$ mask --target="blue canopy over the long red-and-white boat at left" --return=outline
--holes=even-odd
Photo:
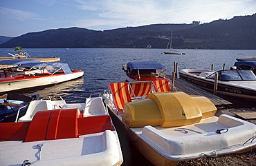
[[[64,74],[69,74],[69,73],[72,72],[67,63],[60,63],[60,62],[26,63],[26,64],[19,65],[19,66],[17,66],[17,67],[19,67],[19,68],[53,67],[53,68],[51,68],[51,70],[52,70],[51,72],[54,72],[54,67],[57,67],[57,68],[62,68],[62,70],[64,71]]]

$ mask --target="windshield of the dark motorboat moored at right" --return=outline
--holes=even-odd
[[[215,72],[217,73],[217,72]],[[221,70],[218,71],[218,79],[221,81],[252,81],[256,80],[255,74],[251,70]],[[207,77],[214,79],[214,74]]]

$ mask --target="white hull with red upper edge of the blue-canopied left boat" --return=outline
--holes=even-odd
[[[10,77],[10,79],[0,79],[0,93],[15,90],[24,90],[31,87],[40,87],[46,85],[54,85],[77,79],[84,74],[83,71],[76,71],[70,74],[53,74],[44,76],[26,76]]]

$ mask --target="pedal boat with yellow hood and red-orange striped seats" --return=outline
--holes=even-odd
[[[204,96],[158,92],[152,84],[110,83],[102,98],[113,123],[154,165],[176,165],[255,147],[255,124],[226,114],[214,116],[217,108]]]

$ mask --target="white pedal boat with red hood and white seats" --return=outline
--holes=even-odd
[[[1,165],[121,165],[122,151],[102,98],[32,101],[18,122],[0,123]]]

